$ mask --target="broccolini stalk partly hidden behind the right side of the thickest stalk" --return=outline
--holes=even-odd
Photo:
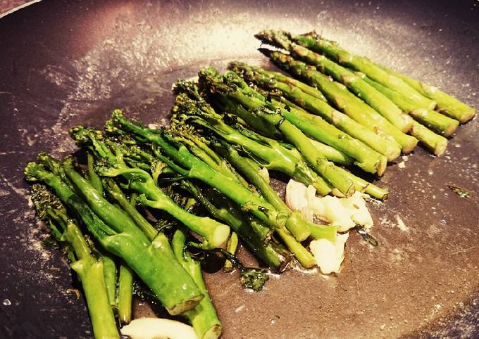
[[[216,309],[213,306],[213,302],[209,296],[208,290],[201,274],[201,265],[197,260],[194,260],[189,252],[185,248],[186,243],[186,231],[183,227],[178,227],[171,245],[175,257],[182,264],[182,267],[188,272],[197,286],[203,293],[204,298],[194,309],[185,312],[183,315],[192,324],[194,331],[197,333],[198,338],[210,339],[219,338],[221,335],[221,323],[216,314]]]

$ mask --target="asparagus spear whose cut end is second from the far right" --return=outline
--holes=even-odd
[[[387,87],[382,86],[382,84],[378,84],[378,82],[374,82],[366,76],[364,76],[364,79],[366,82],[371,84],[371,86],[375,87],[375,89],[378,89],[378,91],[380,91],[382,94],[391,98],[391,100],[397,103],[402,110],[409,112],[409,115],[411,115],[411,117],[413,117],[415,120],[443,136],[450,136],[459,126],[459,122],[457,120],[437,113],[435,110],[416,108],[415,103],[411,101],[411,99],[403,96],[399,92],[388,89]]]

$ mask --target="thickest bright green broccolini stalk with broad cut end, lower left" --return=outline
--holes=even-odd
[[[45,158],[46,155],[40,156],[40,160]],[[55,163],[53,158],[42,162],[50,166],[54,165],[50,169],[55,173],[61,171],[61,165]],[[58,198],[77,213],[103,248],[122,257],[140,279],[153,290],[170,314],[180,314],[198,304],[203,295],[191,277],[175,260],[166,236],[158,234],[154,241],[150,242],[139,229],[125,226],[127,217],[120,214],[117,214],[115,219],[110,219],[111,226],[108,226],[54,172],[46,170],[44,165],[36,162],[29,162],[25,167],[27,180],[42,181],[53,188]],[[94,189],[88,182],[82,183],[81,186],[80,188],[85,187],[88,190]],[[101,274],[103,275],[103,271]]]

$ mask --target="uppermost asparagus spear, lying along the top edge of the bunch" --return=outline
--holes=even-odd
[[[399,93],[402,93],[404,96],[411,98],[411,100],[413,100],[419,107],[433,109],[436,106],[435,101],[421,95],[416,89],[413,89],[413,87],[402,79],[390,75],[368,58],[349,53],[338,46],[335,42],[323,39],[315,32],[304,35],[294,35],[291,36],[291,39],[307,49],[324,53],[328,58],[337,61],[347,68],[353,68],[354,70],[363,72],[375,82],[379,82],[385,87],[394,89],[394,91],[399,91]]]

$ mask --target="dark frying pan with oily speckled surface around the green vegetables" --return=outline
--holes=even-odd
[[[69,127],[101,127],[113,108],[165,122],[171,84],[201,66],[239,59],[273,68],[253,37],[268,27],[316,30],[479,108],[478,18],[476,1],[385,0],[63,0],[2,18],[0,336],[92,335],[84,300],[68,291],[77,282],[46,246],[23,181],[39,151],[75,150]],[[248,293],[235,274],[206,273],[223,338],[478,337],[478,140],[473,121],[440,158],[418,147],[391,164],[382,179],[390,199],[370,204],[380,247],[352,234],[338,276],[292,269]]]

